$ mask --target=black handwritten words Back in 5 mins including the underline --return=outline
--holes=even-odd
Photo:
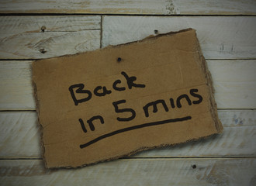
[[[126,80],[127,88],[132,89],[132,88],[145,88],[145,84],[139,84],[137,83],[137,77],[135,76],[128,76],[126,72],[122,71],[121,74]],[[126,91],[127,88],[123,87],[122,81],[120,79],[117,79],[112,83],[112,90],[113,91]],[[73,99],[74,105],[78,105],[82,102],[88,102],[92,98],[92,94],[94,94],[97,97],[104,97],[107,95],[112,94],[112,90],[109,88],[106,88],[106,86],[96,86],[94,90],[91,92],[90,90],[85,89],[85,84],[73,84],[71,85],[68,90],[70,91],[71,98]],[[147,104],[144,105],[142,108],[144,112],[144,115],[146,118],[150,117],[149,110],[152,109],[153,113],[159,112],[159,108],[164,108],[165,112],[171,112],[175,108],[182,108],[182,106],[187,106],[187,105],[197,105],[202,102],[202,96],[198,94],[199,90],[196,88],[192,88],[189,90],[190,95],[179,95],[176,98],[169,98],[169,102],[165,102],[164,99],[157,99],[154,102],[148,102]],[[194,100],[191,98],[195,98]],[[128,101],[129,102],[129,101]],[[185,104],[187,102],[187,104]],[[128,117],[116,117],[116,120],[118,122],[130,122],[133,119],[136,118],[136,111],[133,108],[127,108],[123,104],[126,103],[125,99],[121,99],[116,102],[112,102],[112,105],[114,106],[114,111],[118,115],[129,115]],[[80,148],[85,148],[86,146],[90,146],[93,143],[98,142],[99,140],[103,140],[107,137],[114,136],[119,133],[125,133],[127,131],[133,130],[133,129],[141,129],[144,127],[149,127],[149,126],[159,126],[171,122],[182,122],[192,119],[192,116],[185,116],[183,118],[176,118],[176,119],[167,119],[167,120],[162,120],[162,121],[157,121],[157,122],[147,122],[144,124],[140,124],[137,126],[129,126],[123,129],[118,129],[116,131],[112,131],[110,133],[106,133],[102,136],[96,137],[94,140],[89,141],[88,143],[81,144]],[[86,126],[84,121],[82,119],[78,119],[81,125],[81,129],[83,130],[84,133],[88,133],[88,129],[86,129]],[[95,115],[91,119],[87,120],[87,125],[89,129],[93,132],[95,131],[95,124],[96,123],[101,123],[104,124],[104,119],[101,115]]]

